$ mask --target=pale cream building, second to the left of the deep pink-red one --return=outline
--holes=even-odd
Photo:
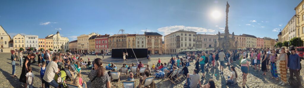
[[[96,33],[89,33],[88,35],[83,34],[77,37],[77,43],[78,43],[78,53],[89,53],[89,38],[91,36],[97,35]]]

